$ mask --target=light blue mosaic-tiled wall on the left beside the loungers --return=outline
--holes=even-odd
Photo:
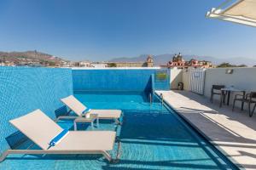
[[[0,67],[0,154],[16,132],[9,120],[36,109],[55,118],[60,99],[73,94],[72,81],[71,69]]]

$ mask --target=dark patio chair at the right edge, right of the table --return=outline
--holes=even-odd
[[[236,94],[236,97],[233,102],[232,111],[234,111],[235,109],[236,101],[241,101],[241,111],[243,111],[243,103],[247,103],[249,116],[253,116],[253,112],[255,111],[255,107],[256,107],[256,92],[251,92],[249,94],[246,94],[245,96],[241,94]],[[251,111],[251,104],[254,104],[253,111]]]

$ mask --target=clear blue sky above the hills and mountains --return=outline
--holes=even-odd
[[[140,54],[256,59],[256,28],[212,20],[224,0],[0,0],[0,51],[71,60]]]

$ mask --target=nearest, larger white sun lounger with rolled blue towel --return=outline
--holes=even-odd
[[[108,153],[113,150],[116,139],[113,131],[67,131],[57,144],[51,146],[51,140],[58,137],[64,129],[42,111],[32,111],[9,122],[42,150],[6,150],[0,161],[9,154],[102,154],[108,161],[113,161]],[[120,144],[118,145],[119,148]]]

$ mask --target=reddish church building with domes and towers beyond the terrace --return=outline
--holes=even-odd
[[[213,65],[212,65],[212,62],[205,61],[205,60],[190,59],[189,61],[185,61],[183,59],[183,56],[179,53],[179,54],[175,54],[172,57],[172,61],[169,61],[167,65],[161,65],[161,66],[168,67],[168,68],[177,67],[180,69],[184,69],[189,67],[212,68]]]

